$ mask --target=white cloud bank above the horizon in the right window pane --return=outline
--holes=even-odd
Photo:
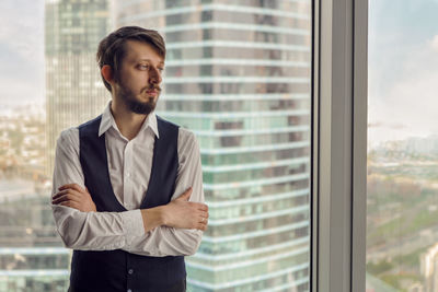
[[[369,130],[371,142],[438,133],[437,51],[438,35],[417,45],[399,60],[401,70],[393,72],[396,81],[384,92],[373,89],[373,72],[379,68],[370,68],[368,117],[371,125],[379,125]],[[395,129],[392,125],[404,127]]]

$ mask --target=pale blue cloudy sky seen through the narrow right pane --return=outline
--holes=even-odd
[[[438,0],[369,0],[368,141],[438,133]]]

